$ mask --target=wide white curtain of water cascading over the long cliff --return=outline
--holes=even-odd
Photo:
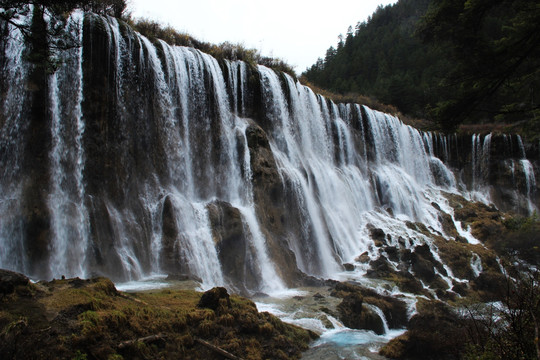
[[[62,55],[47,89],[44,277],[189,273],[204,287],[279,291],[298,283],[297,270],[320,277],[335,277],[344,263],[365,270],[356,258],[383,251],[370,236],[377,228],[389,245],[425,244],[442,261],[431,240],[404,224],[444,234],[439,210],[452,210],[442,191],[487,194],[491,135],[470,140],[468,177],[451,170],[465,153],[457,136],[335,104],[264,66],[150,41],[113,18],[74,14],[69,23],[84,24],[82,46]],[[0,267],[25,272],[31,241],[18,199],[22,160],[32,156],[21,105],[27,65],[22,37],[11,32],[0,118]],[[514,168],[525,180],[515,187],[533,210],[535,165],[522,153]],[[437,271],[448,284],[455,279]]]

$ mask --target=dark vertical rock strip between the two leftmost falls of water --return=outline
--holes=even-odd
[[[29,50],[26,56],[31,59],[28,83],[21,99],[23,114],[20,114],[20,121],[28,121],[27,131],[23,135],[26,142],[23,153],[14,154],[23,159],[24,192],[21,201],[24,212],[23,228],[26,233],[24,248],[29,260],[26,271],[33,276],[49,276],[47,254],[52,237],[51,214],[47,206],[51,183],[49,151],[52,147],[52,116],[49,76],[45,63],[48,56],[46,27],[43,10],[36,7],[32,15],[31,36],[26,44]],[[6,89],[10,85],[7,84]],[[18,126],[24,128],[24,125]]]

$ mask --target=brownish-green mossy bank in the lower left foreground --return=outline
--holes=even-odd
[[[8,358],[212,357],[196,343],[202,338],[245,359],[295,359],[315,338],[237,296],[230,304],[219,299],[212,310],[197,307],[201,294],[194,291],[128,295],[103,278],[55,280],[36,289],[30,298],[3,299],[0,352]],[[150,335],[158,336],[134,341]]]

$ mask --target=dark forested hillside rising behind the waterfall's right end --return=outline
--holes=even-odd
[[[400,0],[349,27],[304,76],[340,94],[374,96],[442,130],[519,124],[535,137],[539,69],[537,1]]]

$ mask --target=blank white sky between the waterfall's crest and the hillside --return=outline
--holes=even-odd
[[[171,25],[214,44],[240,43],[277,57],[298,74],[324,58],[349,25],[396,0],[128,0],[134,17]]]

